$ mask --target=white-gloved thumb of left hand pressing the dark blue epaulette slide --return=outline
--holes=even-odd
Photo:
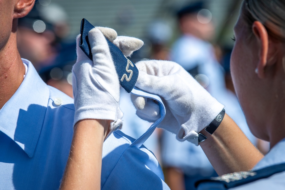
[[[119,102],[119,80],[108,43],[97,28],[89,31],[88,39],[93,56],[92,72],[94,79]]]

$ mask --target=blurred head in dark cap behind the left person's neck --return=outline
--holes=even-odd
[[[52,24],[40,16],[36,6],[18,21],[17,46],[21,56],[31,60],[36,70],[50,65],[57,55]]]

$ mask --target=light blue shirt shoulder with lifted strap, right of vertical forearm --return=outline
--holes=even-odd
[[[157,95],[143,92],[136,87],[131,93],[156,100],[160,108],[160,118],[137,139],[127,136],[121,130],[114,131],[105,139],[101,189],[170,190],[164,182],[164,175],[156,157],[143,145],[164,119],[165,107]]]

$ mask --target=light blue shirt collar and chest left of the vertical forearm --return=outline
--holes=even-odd
[[[58,189],[72,141],[73,99],[23,62],[27,74],[0,110],[0,189]]]

